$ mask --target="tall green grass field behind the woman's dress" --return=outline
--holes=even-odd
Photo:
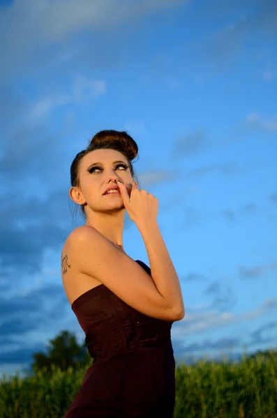
[[[51,378],[40,371],[3,379],[0,418],[62,418],[88,366],[77,372],[53,368]],[[177,366],[174,418],[277,418],[276,353]]]

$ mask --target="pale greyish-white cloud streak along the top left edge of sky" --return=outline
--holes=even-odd
[[[107,29],[188,0],[15,0],[0,13],[6,42],[59,42],[85,29]],[[15,30],[10,31],[10,28]]]

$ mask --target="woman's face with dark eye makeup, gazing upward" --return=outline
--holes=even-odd
[[[97,212],[124,207],[119,191],[105,194],[107,187],[117,186],[117,181],[120,181],[130,195],[135,183],[126,157],[112,149],[94,150],[84,155],[80,161],[79,176],[84,201]]]

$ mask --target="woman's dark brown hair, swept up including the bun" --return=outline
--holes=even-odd
[[[138,153],[137,143],[125,131],[102,130],[94,135],[85,150],[80,151],[80,153],[77,153],[75,156],[70,167],[70,181],[72,187],[80,186],[79,167],[82,157],[91,153],[91,151],[100,149],[112,149],[119,151],[119,153],[126,157],[130,167],[130,173],[133,178],[135,177],[132,161]],[[84,205],[81,205],[81,208],[82,214],[85,215]]]

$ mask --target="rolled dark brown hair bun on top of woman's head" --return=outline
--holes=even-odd
[[[98,132],[91,139],[88,150],[112,148],[126,155],[132,161],[138,153],[138,146],[135,140],[125,131],[103,130]]]

